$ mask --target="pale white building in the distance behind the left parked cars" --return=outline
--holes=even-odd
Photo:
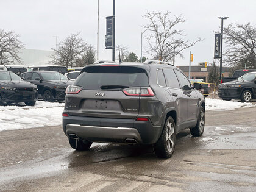
[[[54,51],[44,51],[38,49],[21,49],[19,54],[21,58],[21,64],[15,63],[16,65],[47,65],[53,59],[51,55],[54,54]]]

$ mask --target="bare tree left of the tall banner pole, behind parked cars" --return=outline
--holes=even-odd
[[[60,41],[58,49],[52,49],[55,51],[52,56],[55,65],[74,66],[76,60],[87,51],[88,44],[79,34],[70,34],[64,41]]]

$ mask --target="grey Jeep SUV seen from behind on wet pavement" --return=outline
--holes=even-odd
[[[204,96],[180,69],[160,63],[85,66],[66,89],[63,130],[71,147],[86,150],[93,141],[153,144],[158,157],[169,158],[181,130],[201,136]]]

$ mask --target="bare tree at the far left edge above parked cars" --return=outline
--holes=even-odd
[[[8,65],[15,62],[21,63],[19,57],[20,49],[24,46],[21,41],[18,40],[20,35],[16,35],[12,31],[5,31],[0,29],[0,64]]]

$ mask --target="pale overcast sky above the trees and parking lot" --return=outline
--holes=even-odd
[[[0,28],[20,34],[20,40],[28,49],[51,50],[55,38],[64,40],[69,34],[80,36],[96,48],[98,0],[1,0]],[[105,49],[105,17],[112,15],[112,0],[99,0],[99,59],[112,59],[112,50]],[[176,59],[176,65],[188,65],[189,52],[194,62],[212,62],[214,33],[221,25],[218,16],[228,16],[224,26],[230,23],[256,24],[255,0],[116,0],[116,45],[129,46],[129,52],[140,57],[141,32],[146,10],[183,15],[187,20],[179,25],[187,40],[204,41],[184,52],[184,59]],[[147,35],[145,32],[144,35]],[[144,40],[146,46],[146,40]],[[117,52],[116,52],[117,54]],[[146,55],[146,52],[143,53]]]

